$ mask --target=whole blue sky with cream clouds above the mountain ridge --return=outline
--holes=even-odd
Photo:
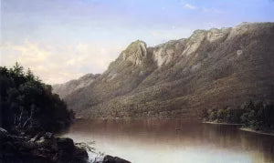
[[[131,42],[195,29],[274,22],[274,0],[0,0],[0,66],[18,61],[47,84],[102,73]]]

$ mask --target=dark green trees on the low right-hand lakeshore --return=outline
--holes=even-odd
[[[262,101],[249,101],[237,108],[203,109],[201,117],[205,121],[241,123],[255,130],[274,131],[274,106]]]

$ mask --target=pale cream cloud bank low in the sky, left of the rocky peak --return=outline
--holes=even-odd
[[[103,43],[100,43],[103,44]],[[26,41],[0,46],[1,66],[16,61],[31,68],[48,84],[63,83],[87,73],[101,73],[122,50],[122,46],[78,43],[69,46],[44,45]],[[109,45],[109,46],[108,46]]]

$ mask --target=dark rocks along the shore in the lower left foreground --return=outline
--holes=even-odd
[[[0,127],[0,162],[32,163],[88,163],[89,155],[71,138],[55,138],[52,133],[39,133],[34,138],[17,136]],[[96,163],[130,163],[109,155]]]

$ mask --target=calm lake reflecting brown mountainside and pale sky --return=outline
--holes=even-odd
[[[79,120],[66,137],[132,163],[274,162],[274,137],[180,120]]]

